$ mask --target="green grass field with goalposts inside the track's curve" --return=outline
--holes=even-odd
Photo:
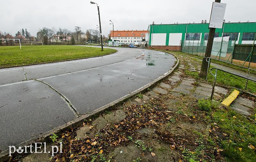
[[[103,56],[116,50],[82,46],[0,46],[0,67]]]

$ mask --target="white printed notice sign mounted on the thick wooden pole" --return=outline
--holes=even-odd
[[[218,2],[212,3],[212,13],[210,18],[209,28],[222,28],[226,5],[227,4],[218,3]]]

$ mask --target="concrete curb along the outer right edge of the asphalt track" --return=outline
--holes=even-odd
[[[166,52],[168,53],[168,52]],[[169,54],[172,54],[172,53],[169,53]],[[148,83],[147,85],[133,91],[132,93],[128,94],[128,95],[125,95],[121,98],[119,98],[118,100],[114,101],[114,102],[111,102],[99,109],[96,109],[88,114],[85,114],[83,116],[80,116],[66,124],[63,124],[59,127],[56,127],[48,132],[45,132],[41,135],[39,135],[36,139],[30,139],[28,141],[25,141],[23,143],[20,143],[20,144],[17,144],[17,146],[21,145],[21,146],[25,146],[25,145],[30,145],[34,142],[44,142],[44,141],[49,141],[49,139],[47,139],[47,137],[51,136],[53,133],[56,133],[56,134],[61,134],[62,132],[65,132],[66,130],[70,129],[70,128],[77,128],[79,126],[81,126],[83,124],[83,121],[84,119],[88,118],[88,117],[95,117],[97,114],[99,114],[100,112],[102,112],[103,110],[106,110],[106,109],[111,109],[113,108],[114,106],[118,106],[119,104],[122,104],[122,102],[126,101],[127,99],[133,97],[134,95],[136,95],[137,93],[140,93],[140,92],[146,92],[147,91],[147,88],[153,88],[155,87],[155,85],[157,85],[157,83],[161,82],[162,80],[164,80],[166,77],[168,77],[169,75],[171,75],[173,73],[174,70],[177,69],[178,65],[179,65],[179,62],[180,60],[178,59],[177,56],[175,56],[174,54],[172,54],[175,58],[176,58],[176,63],[174,64],[174,66],[172,66],[172,68],[165,74],[161,75],[160,77],[158,77],[156,80]],[[6,149],[4,151],[2,151],[0,153],[0,161],[8,161],[10,157],[8,157],[9,155],[9,149]],[[15,156],[15,153],[13,154]],[[18,154],[17,154],[18,155]],[[20,154],[19,154],[20,155]]]

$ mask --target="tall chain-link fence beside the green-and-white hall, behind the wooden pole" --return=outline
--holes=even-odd
[[[204,57],[207,42],[207,40],[182,40],[181,52]],[[212,44],[211,58],[256,69],[254,43],[256,43],[255,40],[251,42],[251,45],[238,45],[236,37],[231,40],[229,36],[216,37]]]

